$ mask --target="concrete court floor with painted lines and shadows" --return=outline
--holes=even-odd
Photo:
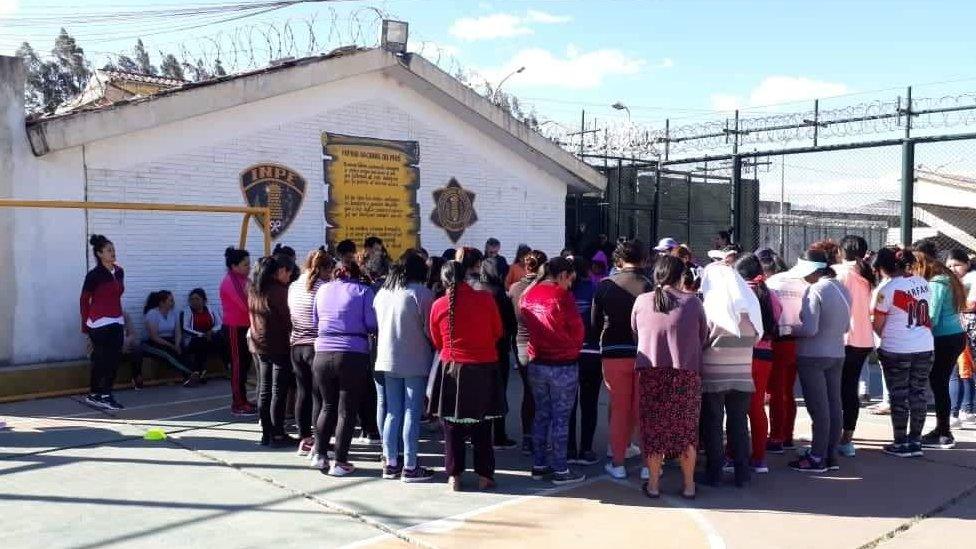
[[[888,418],[865,413],[858,456],[841,471],[805,475],[786,468],[792,456],[770,456],[772,472],[750,487],[701,487],[693,502],[674,495],[670,468],[665,496],[644,498],[637,460],[627,481],[597,465],[585,484],[553,489],[529,478],[517,450],[497,453],[497,490],[448,493],[442,473],[428,484],[380,479],[378,448],[365,446],[354,448],[355,475],[323,476],[291,449],[257,445],[258,426],[232,417],[227,395],[214,380],[120,391],[119,414],[81,397],[0,405],[0,546],[944,549],[976,534],[976,430],[957,432],[954,450],[902,460],[879,450]],[[150,427],[168,439],[144,441]],[[802,410],[797,429],[809,432]],[[422,459],[438,468],[437,435],[425,436],[435,440]],[[605,436],[601,427],[596,448]]]

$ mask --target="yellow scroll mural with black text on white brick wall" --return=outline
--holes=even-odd
[[[327,240],[362,245],[378,236],[392,257],[420,246],[420,147],[391,141],[322,133]]]

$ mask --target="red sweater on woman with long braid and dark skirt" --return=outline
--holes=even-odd
[[[474,290],[464,282],[457,285],[456,291],[453,342],[448,296],[434,301],[430,309],[430,337],[434,341],[434,348],[441,353],[441,360],[462,364],[498,362],[495,344],[501,339],[503,330],[495,298],[488,292]]]

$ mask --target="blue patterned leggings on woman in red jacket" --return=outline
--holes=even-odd
[[[529,363],[529,385],[535,400],[535,419],[532,423],[532,465],[547,465],[546,449],[552,446],[553,471],[569,469],[566,451],[569,442],[569,415],[576,406],[579,388],[579,366],[547,366]]]

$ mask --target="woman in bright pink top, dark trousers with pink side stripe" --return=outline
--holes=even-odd
[[[227,275],[220,283],[220,305],[224,318],[224,335],[230,349],[230,411],[235,416],[253,416],[257,407],[247,399],[247,372],[251,369],[251,352],[247,348],[247,329],[251,326],[247,309],[247,276],[251,273],[251,256],[247,250],[230,247],[224,251]]]

